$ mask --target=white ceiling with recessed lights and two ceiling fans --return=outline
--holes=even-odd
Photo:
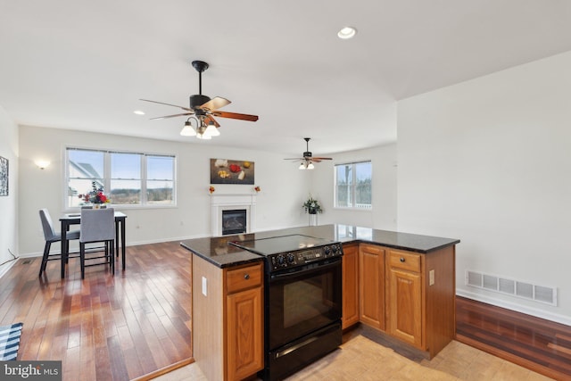
[[[31,126],[335,153],[395,141],[397,100],[568,50],[567,0],[0,0],[0,106]],[[203,94],[260,120],[219,118],[211,141],[149,120],[179,110],[139,98],[198,94],[194,60]]]

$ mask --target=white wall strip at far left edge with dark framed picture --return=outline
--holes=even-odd
[[[0,156],[8,159],[7,196],[0,196],[0,263],[18,256],[18,126],[0,107]],[[12,254],[11,254],[12,253]],[[14,261],[0,266],[0,276],[13,265]]]

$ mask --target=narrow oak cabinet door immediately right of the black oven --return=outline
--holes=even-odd
[[[359,246],[343,246],[343,329],[359,322]]]

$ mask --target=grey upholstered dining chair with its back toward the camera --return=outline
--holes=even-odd
[[[86,257],[86,244],[103,243],[103,255],[89,252]],[[86,275],[87,266],[109,264],[112,274],[115,274],[115,210],[106,209],[81,209],[81,222],[79,223],[79,261],[81,263],[81,278]],[[96,252],[96,253],[99,253]],[[86,264],[86,261],[104,258],[105,261]]]

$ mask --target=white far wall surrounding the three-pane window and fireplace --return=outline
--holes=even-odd
[[[283,155],[217,146],[214,140],[177,143],[21,126],[19,230],[22,255],[37,254],[43,250],[38,209],[48,208],[55,221],[64,211],[63,158],[65,147],[70,145],[177,155],[177,207],[137,210],[118,208],[128,215],[126,226],[129,245],[211,235],[208,193],[211,158],[248,160],[255,163],[255,182],[261,186],[256,206],[257,230],[307,223],[301,205],[309,189],[308,175],[300,173],[302,171],[297,170],[291,162],[284,161]],[[39,170],[34,164],[38,159],[49,160],[51,165],[46,170]],[[253,193],[253,186],[215,187],[217,194]],[[59,250],[59,246],[55,246],[54,250]]]

